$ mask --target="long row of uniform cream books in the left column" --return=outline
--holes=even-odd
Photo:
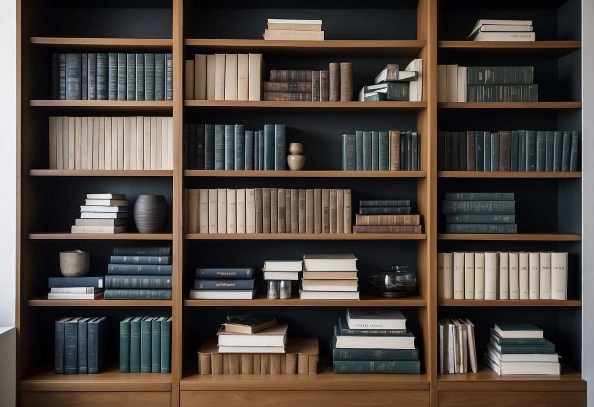
[[[50,170],[171,170],[173,117],[49,117]]]

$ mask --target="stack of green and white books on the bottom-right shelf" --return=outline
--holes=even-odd
[[[555,345],[542,329],[527,322],[496,322],[484,361],[499,375],[561,374]]]

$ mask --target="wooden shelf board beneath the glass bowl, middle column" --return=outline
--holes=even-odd
[[[406,298],[379,297],[361,293],[361,300],[299,300],[293,294],[290,300],[268,300],[266,294],[256,294],[252,300],[184,300],[187,307],[426,307],[421,295]]]

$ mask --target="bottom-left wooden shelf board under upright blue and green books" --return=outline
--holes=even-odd
[[[116,365],[99,374],[55,374],[52,368],[19,384],[21,392],[154,392],[171,391],[170,373],[119,373]]]

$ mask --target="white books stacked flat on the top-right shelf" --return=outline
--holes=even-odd
[[[470,31],[473,41],[534,41],[532,20],[488,20],[481,18]]]

